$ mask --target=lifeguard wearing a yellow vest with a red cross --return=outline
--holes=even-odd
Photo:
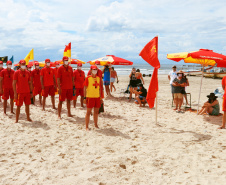
[[[91,75],[87,76],[84,82],[84,100],[86,102],[86,107],[87,107],[87,112],[86,112],[86,130],[89,130],[89,120],[90,120],[90,115],[91,111],[94,108],[94,114],[93,114],[93,119],[94,119],[94,125],[96,128],[98,127],[98,114],[99,114],[99,109],[101,107],[101,85],[102,79],[97,76],[97,66],[92,65],[91,66]]]

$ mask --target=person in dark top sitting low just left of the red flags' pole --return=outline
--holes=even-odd
[[[136,96],[135,103],[139,104],[140,107],[145,106],[146,102],[146,96],[147,96],[147,89],[144,88],[142,83],[138,84],[138,90],[133,90],[133,93]]]

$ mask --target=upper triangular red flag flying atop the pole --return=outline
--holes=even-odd
[[[154,37],[149,43],[147,43],[139,55],[153,67],[160,68],[158,60],[158,37]]]

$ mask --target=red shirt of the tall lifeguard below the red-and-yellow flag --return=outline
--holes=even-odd
[[[73,89],[72,77],[73,69],[71,66],[64,67],[62,65],[58,68],[57,78],[60,78],[61,89]]]

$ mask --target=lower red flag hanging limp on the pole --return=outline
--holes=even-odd
[[[151,82],[148,88],[147,97],[146,97],[146,100],[150,108],[154,107],[155,105],[156,92],[158,92],[158,90],[159,90],[158,68],[154,68],[154,71],[151,77]]]

